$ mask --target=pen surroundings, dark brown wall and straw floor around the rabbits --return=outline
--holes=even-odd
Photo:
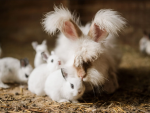
[[[58,103],[48,96],[31,93],[27,84],[9,84],[8,89],[0,88],[0,112],[150,112],[150,56],[139,51],[143,31],[150,33],[149,0],[1,0],[0,58],[26,57],[34,67],[33,41],[47,40],[48,50],[52,51],[57,34],[48,35],[41,22],[44,14],[60,4],[80,15],[83,25],[100,9],[118,11],[127,20],[126,28],[117,38],[122,52],[117,70],[119,88],[107,94],[102,87],[93,87],[90,93],[83,95],[80,103]]]

